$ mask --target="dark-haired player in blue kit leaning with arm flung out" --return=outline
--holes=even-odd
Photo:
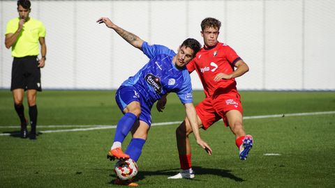
[[[198,145],[211,155],[211,148],[200,137],[197,114],[193,106],[191,77],[186,69],[187,63],[200,50],[200,43],[188,38],[184,40],[176,54],[163,45],[149,45],[135,34],[121,29],[107,17],[101,17],[97,22],[105,23],[108,28],[114,29],[119,36],[142,50],[150,59],[136,75],[129,77],[117,90],[115,100],[124,116],[117,123],[114,143],[107,157],[131,158],[137,162],[151,125],[151,107],[163,95],[171,92],[177,93],[179,100],[184,104],[186,116],[190,120]],[[126,152],[123,152],[121,144],[129,132],[133,134],[133,139]]]

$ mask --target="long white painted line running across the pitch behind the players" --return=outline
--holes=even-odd
[[[243,119],[261,119],[261,118],[283,118],[290,116],[315,116],[315,115],[325,115],[334,114],[335,111],[318,111],[318,112],[308,112],[308,113],[287,113],[287,114],[274,114],[265,116],[246,116]],[[181,121],[173,122],[163,122],[163,123],[152,123],[151,126],[163,126],[163,125],[174,125],[180,124]],[[0,128],[17,128],[18,126],[0,126]],[[90,130],[107,130],[115,129],[117,125],[38,125],[38,127],[87,127],[87,128],[77,128],[70,130],[45,130],[40,131],[41,133],[52,133],[52,132],[78,132],[78,131],[90,131]],[[10,133],[1,133],[0,136],[10,136]]]

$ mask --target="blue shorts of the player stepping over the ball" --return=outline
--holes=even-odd
[[[151,107],[147,105],[144,101],[143,97],[137,91],[137,89],[133,86],[121,86],[117,89],[117,93],[115,95],[115,100],[117,101],[117,106],[123,112],[124,109],[133,101],[140,102],[141,105],[141,115],[140,120],[147,123],[151,126]]]

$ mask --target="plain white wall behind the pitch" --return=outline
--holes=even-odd
[[[4,47],[16,1],[0,1],[0,88],[10,87],[13,58]],[[47,29],[43,88],[115,89],[148,59],[111,29],[110,17],[152,44],[177,50],[186,38],[202,44],[200,22],[222,22],[219,40],[248,63],[240,90],[335,90],[335,1],[32,1],[31,17]],[[192,74],[193,89],[202,89]]]

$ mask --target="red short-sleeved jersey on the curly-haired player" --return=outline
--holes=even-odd
[[[187,65],[188,72],[196,70],[204,87],[206,97],[237,93],[235,79],[221,79],[214,81],[219,72],[227,75],[234,72],[234,63],[241,59],[234,49],[218,42],[215,47],[206,49],[202,47],[190,63]]]

